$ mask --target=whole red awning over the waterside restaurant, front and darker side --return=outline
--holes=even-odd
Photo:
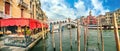
[[[4,26],[29,26],[30,29],[42,28],[40,21],[29,18],[8,18],[0,20],[0,27]]]

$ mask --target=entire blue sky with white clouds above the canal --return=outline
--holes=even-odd
[[[87,16],[92,11],[93,16],[120,8],[120,0],[40,0],[41,8],[49,19],[75,19]]]

